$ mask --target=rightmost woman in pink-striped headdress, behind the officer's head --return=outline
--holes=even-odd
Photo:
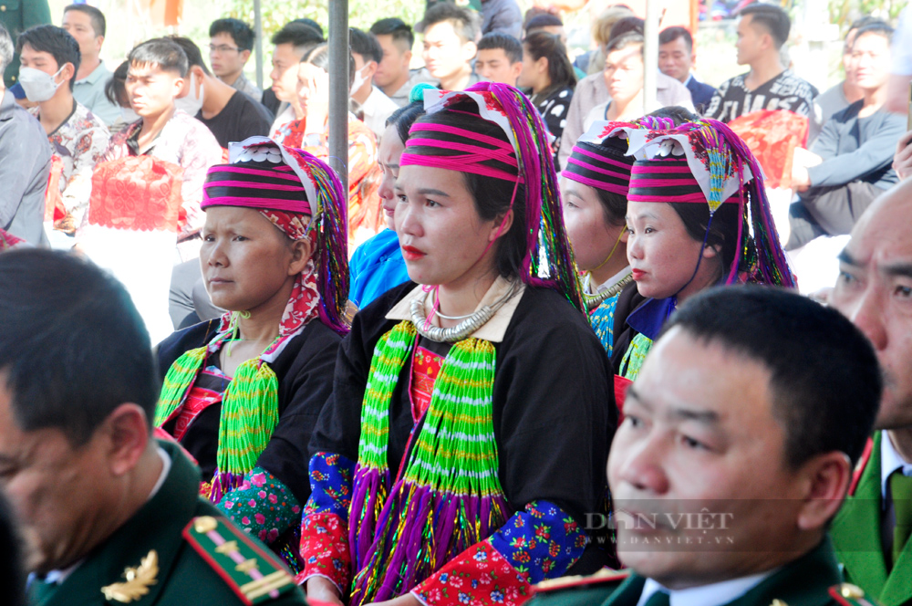
[[[617,301],[611,361],[618,376],[633,381],[684,299],[714,285],[794,287],[795,278],[762,170],[738,135],[716,120],[628,134],[637,158],[627,193],[627,259],[636,285]]]

